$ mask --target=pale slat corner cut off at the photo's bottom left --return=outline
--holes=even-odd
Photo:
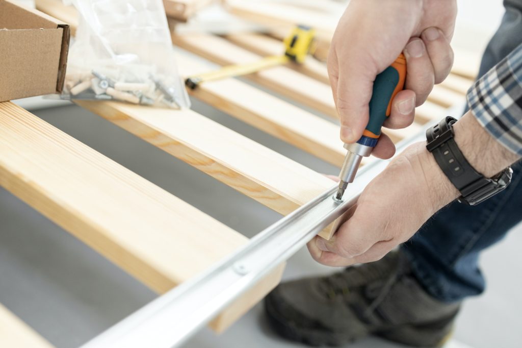
[[[0,347],[52,348],[53,345],[0,305]]]

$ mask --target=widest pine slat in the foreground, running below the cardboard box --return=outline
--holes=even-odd
[[[0,185],[160,293],[247,240],[10,102],[0,103]],[[281,271],[215,327],[260,300]]]

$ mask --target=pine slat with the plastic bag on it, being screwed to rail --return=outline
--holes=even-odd
[[[281,214],[333,185],[323,175],[192,110],[77,103]]]

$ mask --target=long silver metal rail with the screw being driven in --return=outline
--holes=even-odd
[[[419,134],[403,141],[398,150],[423,138],[424,134]],[[345,213],[388,162],[374,160],[361,168],[342,201],[334,200],[336,184],[257,234],[230,257],[151,301],[82,348],[170,348],[181,345],[234,299]]]

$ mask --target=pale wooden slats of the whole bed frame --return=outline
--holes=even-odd
[[[201,3],[171,2],[191,9],[176,15],[182,20]],[[263,24],[315,24],[325,45],[333,30],[330,25],[321,26],[321,17],[326,15],[316,14],[312,8],[294,7],[289,19],[278,16],[276,7],[266,11],[247,0],[228,4],[233,13]],[[75,9],[59,0],[37,0],[37,8],[77,27]],[[283,50],[280,40],[259,33],[217,37],[180,36],[173,31],[172,40],[219,65],[255,61]],[[186,75],[208,70],[206,64],[186,55],[179,55],[177,64]],[[448,79],[434,88],[428,102],[417,109],[412,126],[386,133],[398,142],[443,117],[448,107],[464,102],[476,71],[469,64],[463,69],[457,64]],[[310,58],[304,65],[274,67],[248,79],[273,94],[233,78],[202,84],[190,93],[330,164],[341,165],[346,152],[339,140],[339,126],[319,117],[337,118],[323,63]],[[77,104],[283,215],[333,184],[321,173],[192,110],[112,101]],[[205,270],[247,241],[238,231],[11,102],[0,103],[0,185],[158,293]],[[322,235],[330,237],[331,229]],[[230,326],[279,283],[283,269],[281,264],[223,311],[211,327],[219,332]],[[21,342],[21,336],[32,347],[51,346],[3,307],[0,323],[0,346]],[[13,329],[4,330],[7,325]]]

